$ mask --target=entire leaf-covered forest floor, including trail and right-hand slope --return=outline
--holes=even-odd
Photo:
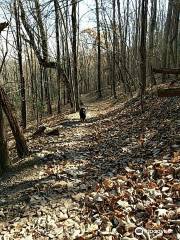
[[[85,122],[46,119],[59,136],[29,127],[30,156],[0,180],[0,239],[180,239],[179,99],[85,104]]]

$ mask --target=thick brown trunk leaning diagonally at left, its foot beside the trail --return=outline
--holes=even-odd
[[[11,104],[9,102],[9,99],[2,87],[0,87],[0,102],[2,104],[2,108],[6,114],[6,117],[9,121],[13,136],[16,141],[17,154],[20,158],[22,158],[28,155],[28,147],[26,145],[26,141],[20,130],[20,127],[18,125],[17,119],[11,110]]]

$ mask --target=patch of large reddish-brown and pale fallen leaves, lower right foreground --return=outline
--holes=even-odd
[[[156,168],[157,163],[155,161],[152,167]],[[174,166],[171,166],[171,164],[169,162],[169,169]],[[164,171],[164,166],[166,165],[167,161],[161,161],[161,169],[163,169],[161,172],[165,172],[165,174],[159,175],[164,180],[160,186],[160,178],[154,181],[143,179],[141,175],[139,178],[135,178],[134,174],[132,174],[134,173],[133,169],[129,168],[126,169],[128,174],[131,173],[128,175],[128,178],[125,175],[123,180],[122,176],[104,179],[98,189],[98,192],[102,193],[101,196],[95,194],[95,192],[95,198],[90,197],[93,193],[89,197],[86,196],[88,198],[88,201],[86,200],[86,203],[88,202],[87,206],[92,206],[92,214],[94,214],[94,209],[98,210],[101,221],[103,221],[104,215],[106,215],[108,221],[112,222],[112,219],[116,219],[117,238],[126,238],[130,235],[132,239],[135,238],[135,228],[138,226],[146,228],[147,231],[151,230],[151,232],[152,230],[164,230],[165,235],[167,233],[168,235],[175,234],[179,229],[179,208],[175,204],[175,197],[178,196],[175,196],[173,191],[179,192],[180,184],[176,182],[176,179],[173,179],[171,180],[171,188],[166,187],[166,184],[169,184],[169,178],[166,178],[169,170],[167,172]],[[134,185],[131,184],[131,188],[127,192],[128,182],[132,179]],[[173,181],[175,182],[173,183]],[[114,191],[112,194],[112,187],[114,190],[120,187],[120,191]],[[171,203],[171,205],[168,205],[168,203]],[[121,211],[119,212],[120,209]],[[99,220],[99,222],[101,221]],[[168,228],[168,226],[171,228]],[[169,230],[166,230],[167,228]],[[111,226],[109,232],[112,230],[113,226]]]

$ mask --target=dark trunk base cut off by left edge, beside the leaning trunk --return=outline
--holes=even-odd
[[[8,166],[9,166],[8,147],[4,132],[2,105],[0,104],[0,172],[4,172]]]

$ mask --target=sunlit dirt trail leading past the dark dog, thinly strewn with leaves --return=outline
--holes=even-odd
[[[69,202],[69,209],[74,208],[76,202],[81,204],[86,191],[94,189],[99,178],[98,169],[92,166],[96,155],[93,148],[97,144],[96,124],[113,103],[106,100],[86,102],[85,105],[87,119],[84,123],[80,122],[79,113],[69,114],[63,121],[57,116],[51,118],[47,122],[51,127],[58,126],[60,135],[30,138],[28,145],[32,154],[1,178],[3,214],[0,219],[5,225],[16,221],[27,223],[26,214],[36,216],[40,205],[48,207],[49,214],[56,214],[57,208],[63,208],[66,202]],[[31,206],[28,209],[27,204]]]

